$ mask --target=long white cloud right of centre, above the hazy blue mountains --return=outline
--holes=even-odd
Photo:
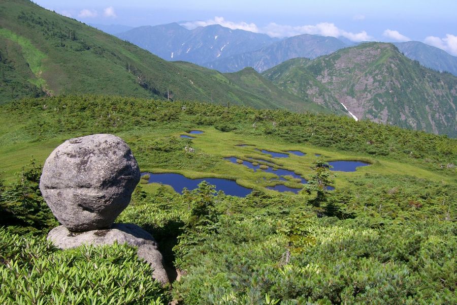
[[[265,33],[271,37],[290,37],[301,34],[313,34],[321,36],[345,37],[351,41],[367,41],[372,39],[367,32],[360,33],[346,32],[338,28],[334,23],[321,22],[316,25],[290,26],[277,23],[270,23],[265,27]]]

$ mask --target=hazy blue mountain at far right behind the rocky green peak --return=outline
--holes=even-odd
[[[406,57],[417,60],[422,66],[457,76],[457,57],[419,41],[397,42],[394,45]]]

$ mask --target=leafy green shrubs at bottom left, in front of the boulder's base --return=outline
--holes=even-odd
[[[166,304],[168,293],[127,245],[61,251],[0,228],[1,304]]]

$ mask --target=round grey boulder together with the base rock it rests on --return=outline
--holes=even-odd
[[[46,160],[40,179],[43,197],[62,224],[48,239],[61,249],[114,241],[138,247],[154,279],[168,283],[152,235],[134,224],[113,225],[139,181],[138,163],[121,138],[96,134],[65,141]]]

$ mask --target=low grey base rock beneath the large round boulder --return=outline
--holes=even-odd
[[[127,243],[138,247],[138,256],[154,269],[153,277],[162,284],[168,283],[167,272],[162,264],[162,255],[157,250],[157,242],[151,234],[134,224],[114,224],[111,229],[72,232],[64,226],[58,226],[48,233],[48,239],[60,249],[69,249],[86,245],[112,245]]]

